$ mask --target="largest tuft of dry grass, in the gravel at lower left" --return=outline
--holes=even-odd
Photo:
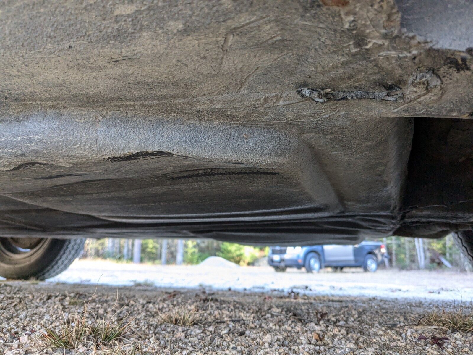
[[[45,348],[77,350],[84,344],[96,348],[112,342],[129,342],[128,339],[133,337],[131,326],[134,319],[129,319],[129,314],[118,319],[116,311],[112,316],[101,318],[88,310],[87,306],[86,304],[84,311],[73,315],[70,319],[62,314],[59,318],[59,327],[50,325],[45,328],[45,332],[37,338],[40,345]]]

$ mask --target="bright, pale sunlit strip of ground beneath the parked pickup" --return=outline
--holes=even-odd
[[[307,295],[364,296],[379,298],[421,298],[430,301],[473,300],[473,277],[449,270],[398,271],[380,269],[364,273],[361,268],[333,273],[330,268],[318,274],[288,269],[276,273],[272,267],[210,267],[117,264],[108,261],[77,260],[51,282],[201,288],[213,290],[272,290]]]

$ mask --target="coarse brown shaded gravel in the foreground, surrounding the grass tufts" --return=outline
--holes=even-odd
[[[426,310],[440,307],[425,301],[18,281],[0,282],[0,300],[0,354],[8,355],[53,353],[34,339],[57,325],[61,312],[81,312],[83,302],[98,315],[119,309],[119,317],[136,317],[132,337],[148,354],[473,354],[471,334],[416,327]],[[182,327],[163,321],[176,310],[194,312],[197,322]],[[420,336],[448,340],[441,349]],[[121,354],[106,349],[96,352]],[[64,352],[92,349],[84,343],[79,350],[54,351]]]

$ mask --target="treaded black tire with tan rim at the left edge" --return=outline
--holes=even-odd
[[[45,280],[61,274],[84,250],[84,238],[0,238],[0,276]]]

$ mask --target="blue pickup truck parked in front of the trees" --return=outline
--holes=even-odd
[[[306,268],[308,273],[318,272],[323,267],[342,270],[344,267],[363,267],[375,272],[387,257],[384,244],[363,241],[357,245],[314,245],[309,247],[272,247],[268,264],[277,272],[288,267]]]

